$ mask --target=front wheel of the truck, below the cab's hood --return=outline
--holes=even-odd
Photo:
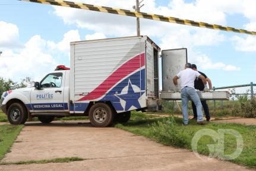
[[[27,109],[20,103],[12,103],[7,110],[8,121],[12,125],[23,125],[27,121]]]

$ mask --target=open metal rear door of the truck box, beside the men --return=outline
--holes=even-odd
[[[184,69],[187,61],[187,48],[162,50],[163,91],[175,91],[172,78]],[[181,88],[180,81],[178,87]]]

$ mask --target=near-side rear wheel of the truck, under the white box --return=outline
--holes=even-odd
[[[89,110],[90,122],[95,127],[106,127],[112,124],[114,112],[106,103],[96,103]]]

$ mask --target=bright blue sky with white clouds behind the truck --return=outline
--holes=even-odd
[[[253,1],[203,1],[144,0],[146,5],[142,10],[256,31],[256,16],[251,12],[254,5],[248,5]],[[135,1],[83,2],[131,9]],[[0,30],[0,51],[3,52],[0,77],[18,81],[26,76],[38,79],[57,64],[69,65],[69,40],[134,36],[135,18],[1,0]],[[216,87],[256,83],[256,36],[146,20],[141,21],[141,33],[151,37],[162,49],[187,47],[189,61],[198,64],[198,69],[211,78]],[[40,61],[44,63],[40,65]],[[14,69],[18,66],[27,69]]]

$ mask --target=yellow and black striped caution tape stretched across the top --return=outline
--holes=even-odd
[[[192,21],[192,20],[184,20],[184,19],[175,18],[175,17],[166,17],[163,15],[147,14],[144,12],[129,11],[126,9],[103,7],[103,6],[83,4],[83,3],[78,3],[78,2],[60,1],[60,0],[19,0],[19,1],[37,2],[40,4],[49,4],[49,5],[58,5],[58,6],[62,6],[62,7],[87,9],[90,11],[98,11],[98,12],[106,12],[106,13],[110,13],[110,14],[126,15],[129,17],[146,18],[149,20],[165,21],[165,22],[169,22],[169,23],[183,24],[183,25],[194,26],[194,27],[204,27],[207,29],[232,31],[235,33],[256,35],[256,31],[235,29],[233,27],[225,27],[225,26],[220,26],[220,25],[216,25],[216,24],[208,24],[208,23],[197,22],[197,21]]]

